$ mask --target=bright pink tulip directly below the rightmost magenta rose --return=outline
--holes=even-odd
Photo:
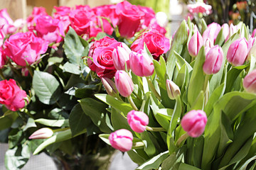
[[[144,50],[131,52],[129,55],[132,72],[139,77],[148,77],[154,73],[154,64]]]

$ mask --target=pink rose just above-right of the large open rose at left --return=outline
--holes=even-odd
[[[35,30],[38,37],[47,40],[49,43],[61,42],[65,36],[63,24],[51,16],[39,16],[36,18]]]

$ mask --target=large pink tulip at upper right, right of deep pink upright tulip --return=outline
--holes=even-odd
[[[234,66],[244,64],[248,54],[248,42],[245,38],[238,38],[228,48],[227,60]]]

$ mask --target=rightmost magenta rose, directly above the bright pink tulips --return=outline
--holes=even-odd
[[[140,38],[132,43],[132,51],[139,52],[139,50],[143,50],[144,43],[146,43],[146,47],[156,60],[170,49],[169,39],[165,38],[158,30],[143,33]]]

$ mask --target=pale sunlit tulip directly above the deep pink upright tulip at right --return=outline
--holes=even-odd
[[[203,32],[203,42],[206,42],[207,38],[210,38],[211,41],[215,42],[220,29],[221,27],[218,23],[211,23],[208,25],[208,28]]]

